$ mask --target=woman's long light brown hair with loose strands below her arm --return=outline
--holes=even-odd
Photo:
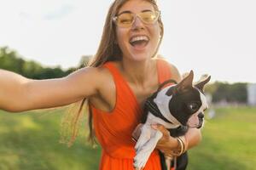
[[[115,0],[110,8],[108,9],[108,15],[105,20],[105,25],[102,32],[102,39],[99,44],[99,48],[96,51],[96,54],[92,59],[90,59],[90,63],[88,66],[90,67],[99,67],[102,66],[104,63],[108,61],[114,61],[114,60],[121,60],[122,59],[122,52],[119,48],[119,44],[116,43],[116,26],[113,23],[113,17],[118,14],[119,8],[121,8],[126,2],[129,0]],[[154,10],[160,11],[159,7],[156,3],[156,0],[143,0],[146,2],[149,2],[153,5]],[[157,50],[155,51],[154,55],[157,54],[157,51],[160,47],[160,43],[162,41],[162,37],[164,35],[164,26],[161,20],[161,17],[158,19],[159,26],[160,26],[160,42],[158,44]],[[154,55],[152,57],[154,57]],[[70,124],[71,126],[71,139],[68,142],[68,145],[73,144],[73,141],[76,139],[79,131],[79,119],[82,117],[83,114],[83,107],[86,106],[86,110],[88,112],[88,122],[89,122],[89,141],[94,144],[95,138],[94,138],[94,131],[92,127],[92,112],[90,110],[90,105],[88,107],[88,99],[84,98],[79,102],[79,110],[76,114],[73,114],[73,118],[67,117],[67,119],[70,119],[72,121]],[[85,112],[85,111],[84,111]],[[65,122],[65,121],[64,121]],[[67,123],[68,124],[68,123]],[[65,130],[65,128],[63,128]]]

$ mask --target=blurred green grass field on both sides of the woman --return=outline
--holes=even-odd
[[[189,170],[255,170],[256,108],[219,108],[189,150]],[[63,110],[0,111],[0,170],[95,170],[100,148],[60,144]]]

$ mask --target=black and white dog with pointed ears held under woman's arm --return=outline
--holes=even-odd
[[[159,130],[154,130],[151,127],[152,124],[165,126],[173,137],[184,135],[189,127],[202,127],[204,111],[208,107],[203,88],[211,77],[195,85],[193,85],[193,77],[194,73],[190,71],[189,76],[178,84],[165,87],[173,80],[162,83],[160,88],[145,102],[142,133],[135,146],[134,167],[136,169],[145,167],[148,157],[163,135]],[[163,159],[163,154],[160,157]],[[177,169],[185,169],[188,164],[186,152],[179,156],[177,161],[182,162],[181,167]],[[162,169],[166,169],[165,162],[161,160]]]

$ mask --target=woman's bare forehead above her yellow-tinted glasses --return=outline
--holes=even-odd
[[[119,8],[119,13],[122,13],[124,11],[130,11],[132,13],[139,13],[142,12],[143,10],[152,10],[154,11],[154,7],[152,3],[149,3],[148,1],[144,0],[130,0],[127,1],[126,3]]]

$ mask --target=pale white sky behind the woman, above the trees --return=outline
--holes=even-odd
[[[77,66],[96,54],[113,0],[0,0],[0,47],[42,65]],[[159,0],[159,54],[212,81],[256,82],[255,0]]]

